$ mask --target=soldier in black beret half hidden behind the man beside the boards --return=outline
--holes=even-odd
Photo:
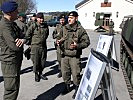
[[[63,31],[63,27],[66,25],[66,17],[64,14],[61,14],[59,19],[60,19],[60,24],[58,24],[55,30],[53,31],[53,39],[56,39],[56,42],[61,39],[60,35]],[[55,42],[55,48],[57,49],[57,61],[59,63],[59,66],[58,66],[59,74],[57,75],[57,77],[60,78],[62,77],[62,73],[61,73],[61,56],[62,55],[61,55],[60,45],[57,45],[56,42]]]

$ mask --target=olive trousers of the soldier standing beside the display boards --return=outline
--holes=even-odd
[[[73,83],[78,86],[80,83],[80,58],[65,56],[61,59],[62,77],[66,84],[71,84],[71,74]]]

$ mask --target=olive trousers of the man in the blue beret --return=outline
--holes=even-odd
[[[1,62],[1,70],[4,78],[4,100],[16,100],[20,87],[21,63]]]

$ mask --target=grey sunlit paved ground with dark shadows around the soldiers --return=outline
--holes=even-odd
[[[47,66],[43,71],[43,73],[47,75],[48,80],[41,80],[38,83],[35,82],[34,74],[32,73],[32,62],[24,58],[23,64],[22,64],[21,86],[20,86],[18,100],[32,100],[32,99],[72,100],[71,97],[74,91],[71,91],[66,95],[61,95],[61,92],[63,90],[63,80],[62,78],[57,78],[58,63],[56,60],[56,51],[53,45],[54,40],[52,39],[52,36],[51,36],[53,29],[54,28],[50,28],[50,36],[47,41],[47,44],[48,44]],[[83,50],[83,55],[82,55],[83,67],[85,67],[88,55],[90,53],[90,48],[94,48],[94,49],[96,48],[96,44],[98,42],[98,37],[99,37],[99,33],[96,33],[94,31],[89,31],[89,30],[87,30],[87,32],[90,36],[91,45],[85,50]],[[120,61],[120,38],[121,38],[120,34],[115,35],[118,61]],[[113,79],[115,83],[116,96],[118,100],[130,100],[121,68],[119,72],[113,70]],[[2,79],[2,73],[0,70],[0,100],[2,100],[3,92],[4,92],[3,79]],[[96,100],[100,100],[100,99],[97,98]]]

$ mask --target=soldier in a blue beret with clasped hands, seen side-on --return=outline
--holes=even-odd
[[[19,39],[20,30],[14,22],[17,19],[17,8],[18,4],[15,1],[4,2],[0,7],[4,14],[0,21],[0,60],[5,88],[3,100],[16,100],[20,86],[23,47],[16,42],[21,44],[23,41]]]

